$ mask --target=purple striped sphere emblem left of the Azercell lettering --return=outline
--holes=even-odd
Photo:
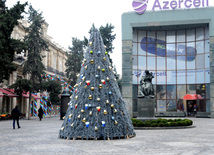
[[[148,0],[134,0],[132,7],[138,14],[143,14],[146,11]]]

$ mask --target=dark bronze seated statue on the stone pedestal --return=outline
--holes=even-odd
[[[147,97],[147,98],[154,98],[154,87],[152,85],[152,79],[154,76],[152,72],[145,70],[145,75],[142,76],[140,80],[140,90],[138,97]]]

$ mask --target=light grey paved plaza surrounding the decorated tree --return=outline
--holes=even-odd
[[[0,155],[212,155],[214,119],[190,118],[195,128],[135,130],[137,136],[122,140],[64,140],[58,138],[63,123],[59,117],[20,120],[20,129],[12,129],[12,120],[0,121]]]

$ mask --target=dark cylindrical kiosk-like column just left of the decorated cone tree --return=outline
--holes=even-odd
[[[68,89],[64,89],[61,95],[61,105],[60,105],[60,119],[63,120],[63,117],[66,114],[68,109],[68,103],[70,101],[70,93]]]

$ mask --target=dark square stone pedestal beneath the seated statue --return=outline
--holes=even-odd
[[[138,105],[137,118],[141,118],[141,117],[154,118],[155,117],[154,104],[155,104],[155,99],[138,98],[137,99],[137,105]]]

